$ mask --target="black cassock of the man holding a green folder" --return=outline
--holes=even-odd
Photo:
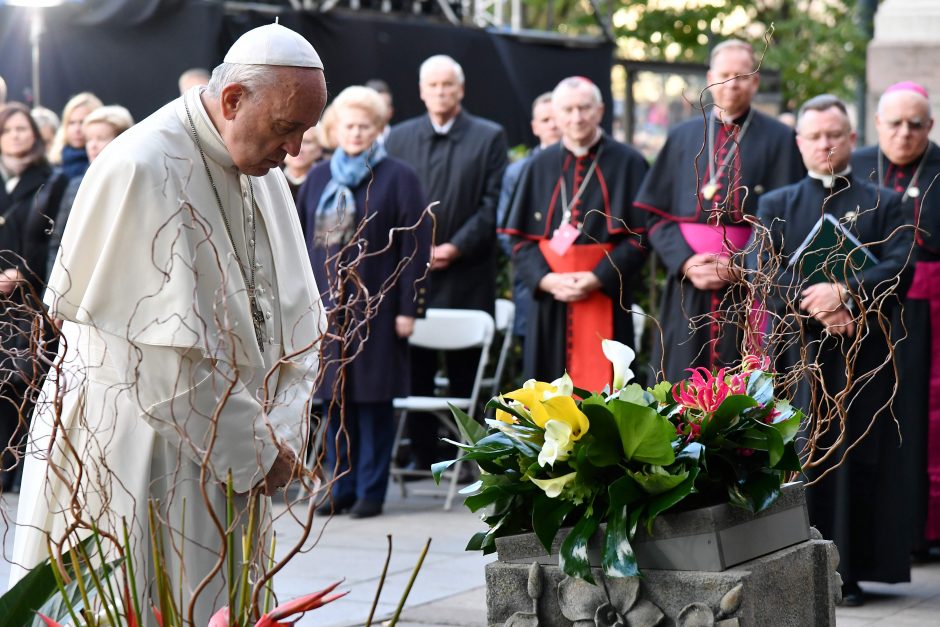
[[[848,443],[858,441],[838,469],[807,491],[810,524],[836,543],[843,580],[909,581],[911,502],[903,481],[905,459],[913,443],[905,440],[902,445],[892,419],[896,377],[889,360],[891,340],[882,324],[890,323],[897,292],[909,279],[907,258],[913,236],[910,229],[902,228],[897,194],[854,175],[847,182],[839,179],[834,191],[830,194],[818,180],[807,177],[761,199],[757,217],[770,229],[771,239],[769,250],[762,254],[765,259],[771,253],[783,256],[782,266],[763,265],[765,270],[780,268],[778,289],[771,299],[775,333],[770,336],[769,349],[779,355],[782,372],[801,364],[803,355],[812,360],[815,372],[800,377],[793,404],[814,425],[830,421],[828,431],[817,442],[817,459],[821,447],[835,446],[842,430],[836,425],[841,418],[846,420],[846,442],[835,449],[828,462],[810,472],[810,477],[820,476],[841,459]],[[847,279],[854,310],[868,312],[853,338],[826,334],[815,320],[796,315],[800,292],[806,286],[800,274],[788,269],[787,262],[824,210],[840,218],[878,258],[877,264]],[[753,257],[752,265],[756,265]],[[856,318],[861,322],[857,314]],[[851,379],[846,375],[848,356],[853,360]],[[836,395],[842,397],[844,415],[834,407]],[[869,425],[871,431],[859,440]]]

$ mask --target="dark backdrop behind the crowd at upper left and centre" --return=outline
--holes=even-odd
[[[272,19],[254,12],[226,15],[220,3],[200,0],[91,0],[44,15],[42,104],[61,111],[71,95],[89,90],[106,104],[126,106],[138,120],[178,95],[180,73],[214,67],[239,35]],[[571,75],[586,76],[601,88],[609,128],[609,45],[522,42],[506,34],[365,13],[285,11],[281,23],[317,48],[332,95],[371,78],[385,80],[395,99],[394,121],[424,112],[418,66],[444,53],[464,68],[464,106],[502,124],[510,144],[533,141],[532,100]],[[0,6],[0,76],[9,100],[30,99],[30,63],[28,12]]]

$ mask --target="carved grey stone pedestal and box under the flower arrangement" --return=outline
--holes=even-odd
[[[643,578],[598,586],[564,575],[534,534],[497,540],[487,565],[490,625],[834,625],[838,553],[810,530],[802,485],[754,516],[718,505],[657,518],[637,534]],[[600,564],[599,552],[592,564]],[[688,558],[687,560],[685,558]]]

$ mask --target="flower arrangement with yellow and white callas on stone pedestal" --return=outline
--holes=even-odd
[[[744,357],[734,368],[690,370],[676,384],[643,389],[631,383],[634,352],[610,340],[611,386],[591,392],[565,374],[551,383],[529,380],[497,396],[486,427],[452,408],[464,461],[480,480],[462,490],[471,511],[486,508],[489,529],[468,550],[491,553],[496,538],[534,531],[550,550],[562,526],[573,526],[559,565],[593,583],[587,544],[607,528],[602,567],[608,577],[640,574],[631,541],[639,525],[677,506],[716,502],[759,512],[800,470],[794,438],[803,414],[774,396],[769,359]],[[435,464],[434,476],[455,464]]]

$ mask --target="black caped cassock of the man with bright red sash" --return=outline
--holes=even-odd
[[[553,381],[566,369],[570,371],[572,352],[582,349],[575,345],[573,334],[583,334],[583,342],[596,344],[593,348],[600,352],[598,329],[573,328],[577,327],[569,311],[573,307],[538,289],[541,279],[553,271],[544,249],[562,224],[565,205],[571,208],[568,223],[577,225],[580,232],[564,256],[573,256],[578,247],[609,247],[584,269],[592,271],[602,284],[599,296],[606,301],[612,330],[605,339],[633,345],[630,292],[646,260],[646,250],[643,217],[636,215],[632,203],[646,170],[646,160],[639,152],[606,134],[580,157],[559,142],[529,163],[503,228],[514,238],[514,271],[533,292],[523,357],[526,378]],[[572,202],[577,190],[583,191]],[[609,367],[603,355],[599,363]],[[594,380],[587,375],[586,380],[578,372],[571,374],[574,384],[586,389],[601,389],[610,382],[609,376]]]

